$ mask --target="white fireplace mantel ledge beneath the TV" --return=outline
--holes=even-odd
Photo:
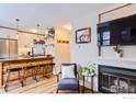
[[[98,60],[95,61],[95,64],[136,69],[136,59],[134,58],[98,57]]]

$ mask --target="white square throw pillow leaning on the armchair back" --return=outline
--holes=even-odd
[[[61,79],[64,78],[76,78],[75,76],[75,66],[69,65],[69,66],[61,66]]]

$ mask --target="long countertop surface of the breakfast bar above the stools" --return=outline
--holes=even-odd
[[[5,61],[14,61],[14,60],[30,60],[30,59],[45,59],[45,58],[54,58],[53,56],[46,57],[46,56],[36,56],[36,57],[11,57],[11,58],[2,58],[0,59],[0,63],[5,63]]]

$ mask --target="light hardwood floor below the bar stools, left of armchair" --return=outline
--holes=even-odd
[[[57,78],[52,76],[50,78],[39,78],[36,82],[32,78],[27,78],[26,86],[21,87],[19,81],[10,82],[7,93],[53,93],[56,91]],[[0,93],[5,93],[3,89]]]

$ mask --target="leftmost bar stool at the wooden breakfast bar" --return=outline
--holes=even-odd
[[[10,67],[10,66],[9,66]],[[23,87],[23,80],[21,78],[21,73],[20,71],[22,71],[22,68],[20,66],[14,66],[14,67],[10,67],[7,69],[7,79],[5,79],[5,86],[4,86],[4,91],[8,92],[8,87],[9,87],[9,81],[10,81],[10,77],[12,72],[18,72],[18,79],[21,83],[21,87]]]

